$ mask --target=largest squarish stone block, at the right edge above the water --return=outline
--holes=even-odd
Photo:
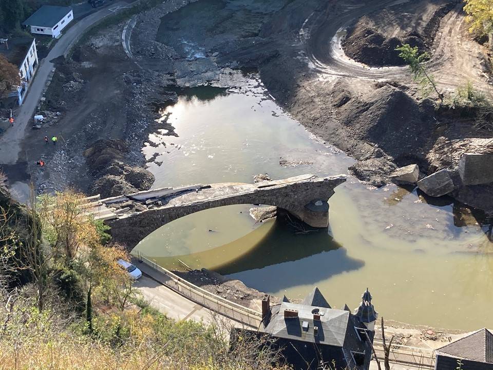
[[[464,153],[459,161],[459,175],[464,185],[493,182],[493,153]]]

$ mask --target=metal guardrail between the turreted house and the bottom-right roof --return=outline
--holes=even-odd
[[[375,341],[373,348],[378,359],[383,361],[385,358],[383,343]],[[389,362],[419,369],[430,369],[435,367],[435,355],[432,349],[392,344]]]

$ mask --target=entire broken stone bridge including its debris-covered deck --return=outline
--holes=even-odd
[[[329,224],[328,200],[345,175],[302,175],[255,184],[225,182],[163,188],[106,198],[88,213],[111,227],[113,240],[133,248],[145,236],[177,218],[210,208],[255,204],[282,208],[312,227]]]

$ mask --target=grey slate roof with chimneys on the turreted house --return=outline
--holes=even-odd
[[[314,308],[319,309],[319,321],[313,320]],[[298,317],[285,319],[285,309],[298,310]],[[354,331],[352,320],[348,324],[350,315],[351,312],[344,310],[282,302],[279,310],[272,311],[271,320],[265,331],[278,338],[343,347],[348,328],[352,326]],[[308,322],[308,330],[302,328],[304,321]],[[317,337],[313,335],[314,326],[318,327]]]

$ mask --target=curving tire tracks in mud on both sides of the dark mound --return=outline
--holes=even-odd
[[[407,2],[406,0],[404,2]],[[412,78],[407,66],[370,67],[347,57],[340,45],[340,33],[349,24],[374,11],[404,3],[403,1],[370,0],[358,7],[329,14],[329,9],[319,14],[313,12],[299,31],[299,37],[305,39],[306,55],[311,68],[322,75],[346,77],[365,80],[393,79],[411,83]],[[438,84],[443,88],[456,88],[465,81],[473,81],[478,87],[487,89],[487,78],[475,73],[478,58],[471,55],[473,46],[464,40],[465,17],[462,4],[457,5],[441,20],[440,27],[433,41],[433,54],[426,63],[431,72],[440,78]],[[464,45],[466,44],[466,45]],[[479,49],[479,45],[478,45]]]

